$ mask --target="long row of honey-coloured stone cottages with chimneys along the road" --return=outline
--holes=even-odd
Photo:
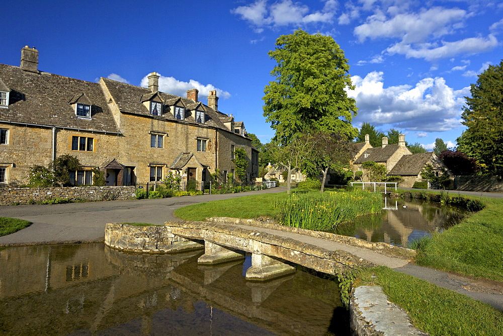
[[[185,181],[209,181],[218,169],[234,174],[233,151],[247,153],[248,178],[258,176],[258,151],[244,124],[218,111],[216,91],[208,104],[198,90],[187,98],[100,78],[89,82],[38,69],[38,51],[24,47],[21,66],[0,64],[0,186],[27,184],[29,167],[76,156],[82,170],[74,185],[92,184],[92,169],[107,185],[160,181],[167,173]]]

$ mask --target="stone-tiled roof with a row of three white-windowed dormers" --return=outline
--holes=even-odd
[[[103,77],[101,78],[101,80],[105,82],[106,87],[108,88],[110,94],[112,95],[115,103],[117,104],[121,112],[148,116],[152,118],[177,120],[175,119],[173,114],[169,111],[164,111],[162,116],[152,116],[150,114],[150,111],[141,102],[144,101],[145,97],[153,97],[153,94],[150,92],[149,89],[136,87],[134,85],[130,85],[127,83]],[[225,127],[225,125],[220,120],[222,117],[227,118],[226,114],[215,111],[209,106],[202,104],[201,102],[194,102],[192,99],[174,96],[163,92],[158,92],[156,94],[158,94],[159,97],[166,104],[173,105],[180,100],[187,107],[187,110],[200,109],[204,111],[206,115],[206,120],[204,122],[205,125],[229,131],[229,129]],[[201,123],[197,123],[194,117],[195,113],[193,113],[192,116],[189,116],[189,114],[187,114],[187,117],[184,119],[184,121],[188,123],[197,124],[200,126]],[[180,120],[177,121],[180,122]]]

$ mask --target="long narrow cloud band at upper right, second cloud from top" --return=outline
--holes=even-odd
[[[405,55],[406,58],[424,58],[428,61],[439,58],[452,57],[458,54],[477,54],[490,51],[498,45],[498,41],[494,35],[487,38],[471,37],[455,42],[444,42],[438,47],[434,44],[423,44],[419,48],[414,49],[410,44],[396,43],[386,49],[390,54]]]

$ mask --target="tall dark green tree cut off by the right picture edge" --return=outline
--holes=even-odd
[[[470,93],[461,115],[468,129],[458,148],[475,157],[487,173],[503,176],[503,61],[489,65]]]

